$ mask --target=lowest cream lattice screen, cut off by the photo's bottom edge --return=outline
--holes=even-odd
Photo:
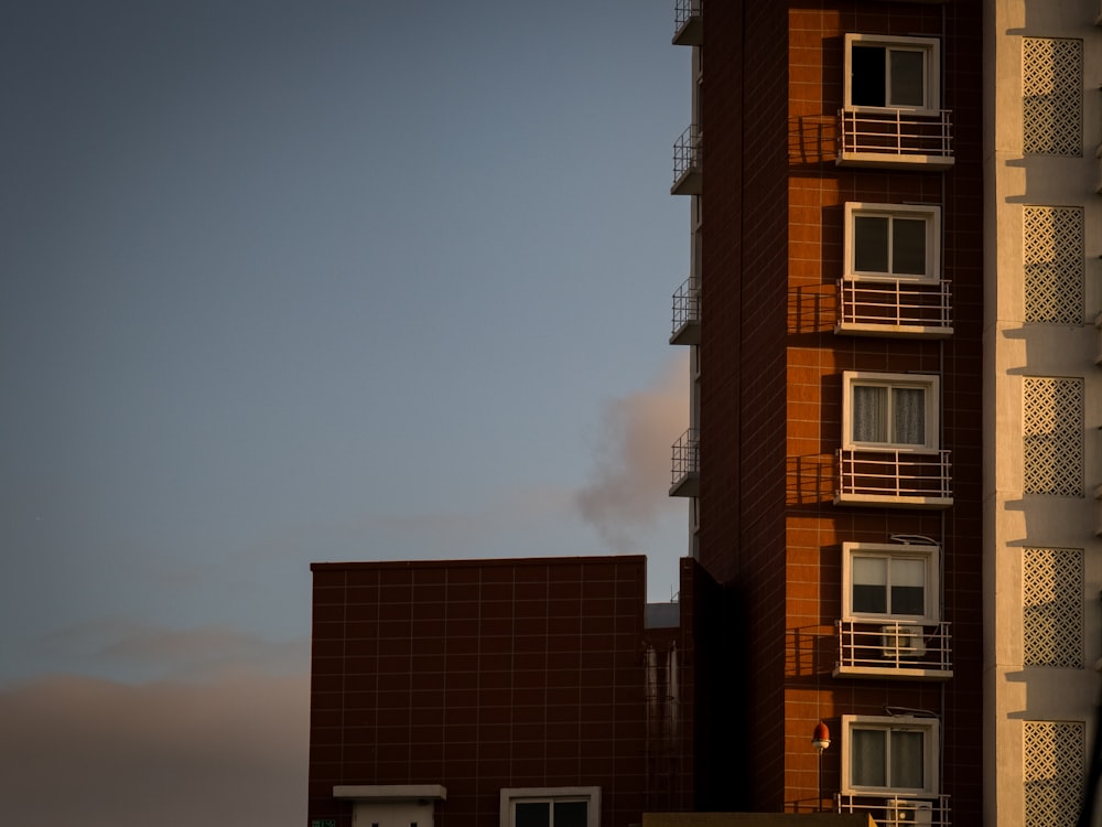
[[[1085,727],[1080,721],[1025,721],[1025,824],[1068,827],[1079,818]]]

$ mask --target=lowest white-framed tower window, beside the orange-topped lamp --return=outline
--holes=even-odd
[[[937,795],[938,720],[842,716],[842,793]]]

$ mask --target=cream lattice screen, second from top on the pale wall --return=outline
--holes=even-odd
[[[1083,211],[1027,206],[1022,240],[1027,322],[1083,321]]]

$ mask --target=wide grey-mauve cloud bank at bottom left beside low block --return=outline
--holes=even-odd
[[[309,680],[130,686],[52,677],[0,691],[0,824],[298,827]]]

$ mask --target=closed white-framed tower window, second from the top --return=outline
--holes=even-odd
[[[941,210],[904,204],[845,205],[845,278],[936,281]]]

